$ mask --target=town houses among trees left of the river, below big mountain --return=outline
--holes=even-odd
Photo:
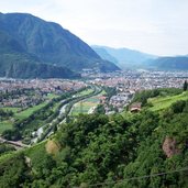
[[[60,95],[86,87],[82,81],[60,79],[1,79],[0,107],[15,107],[26,109],[36,106],[48,93]]]

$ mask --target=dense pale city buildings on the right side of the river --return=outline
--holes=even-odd
[[[90,81],[95,85],[114,87],[117,96],[112,96],[110,104],[119,111],[128,106],[134,93],[141,90],[156,88],[183,88],[188,78],[188,71],[148,71],[148,70],[128,70],[112,74],[99,74]],[[133,108],[134,110],[134,108]]]

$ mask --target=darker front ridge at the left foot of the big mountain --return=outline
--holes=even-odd
[[[68,68],[41,63],[27,54],[20,43],[0,31],[0,77],[11,78],[79,78]]]

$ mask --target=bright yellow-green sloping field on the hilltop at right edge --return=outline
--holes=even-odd
[[[148,102],[153,104],[152,108],[150,108],[153,111],[163,110],[165,108],[168,108],[172,103],[178,101],[178,100],[187,100],[188,99],[188,92],[183,92],[177,96],[170,96],[170,97],[157,97],[148,99]]]

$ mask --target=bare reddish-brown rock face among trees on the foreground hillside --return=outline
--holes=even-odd
[[[163,143],[163,151],[168,158],[180,153],[180,150],[177,148],[176,140],[172,137],[165,139]]]

